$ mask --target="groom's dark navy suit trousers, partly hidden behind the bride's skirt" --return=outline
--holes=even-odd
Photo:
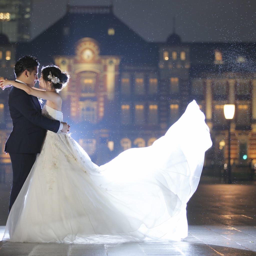
[[[35,154],[14,154],[9,153],[13,169],[13,185],[10,194],[9,212],[14,204],[19,191],[21,190],[28,174],[36,161]]]

